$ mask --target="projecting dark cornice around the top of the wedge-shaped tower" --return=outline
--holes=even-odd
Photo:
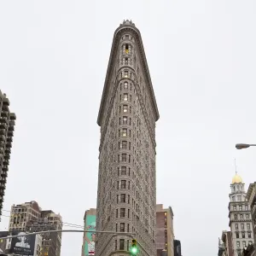
[[[157,121],[159,119],[159,112],[158,112],[157,104],[156,104],[155,97],[154,97],[154,90],[153,90],[152,82],[150,79],[150,74],[148,71],[148,63],[147,63],[146,55],[145,55],[144,48],[143,48],[143,40],[141,38],[141,34],[135,26],[125,24],[125,25],[120,25],[119,28],[116,29],[116,31],[114,32],[114,35],[113,35],[113,44],[112,44],[112,49],[110,52],[110,57],[109,57],[109,62],[108,62],[108,70],[107,70],[105,84],[104,84],[104,88],[103,88],[103,92],[102,92],[102,101],[101,101],[101,106],[100,106],[100,110],[98,113],[98,119],[97,119],[97,124],[100,126],[102,125],[102,116],[104,113],[104,108],[105,108],[106,100],[108,97],[108,91],[111,86],[111,79],[113,77],[116,57],[119,54],[119,50],[118,50],[119,39],[121,38],[121,35],[124,32],[130,32],[133,35],[133,37],[136,38],[137,49],[140,54],[139,57],[142,61],[144,74],[145,74],[147,84],[149,87],[149,94],[151,97],[151,101],[153,102],[155,121]]]

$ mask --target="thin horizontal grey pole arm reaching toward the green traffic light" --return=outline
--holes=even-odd
[[[125,235],[125,236],[135,236],[134,233],[128,233],[128,232],[113,232],[113,231],[89,231],[89,230],[47,230],[47,231],[39,231],[39,232],[33,232],[33,233],[26,233],[23,235],[16,235],[16,236],[5,236],[5,237],[0,237],[0,239],[10,239],[10,238],[15,238],[15,237],[20,237],[20,236],[34,236],[34,235],[41,235],[45,233],[96,233],[96,234],[113,234],[113,235]]]

